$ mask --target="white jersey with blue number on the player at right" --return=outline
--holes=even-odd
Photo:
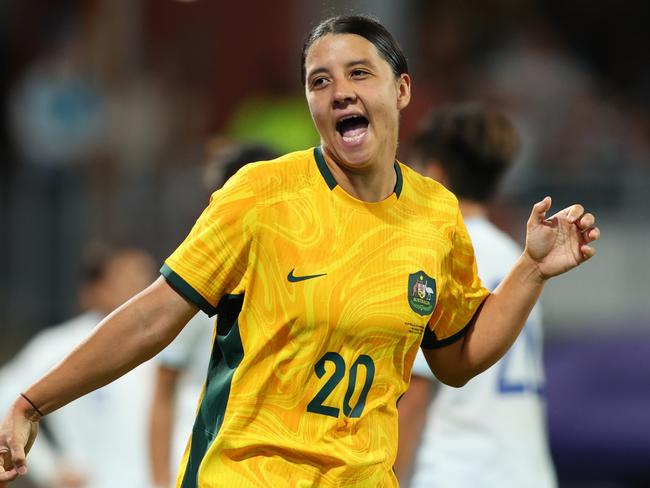
[[[493,290],[521,250],[486,219],[465,222],[479,275]],[[412,374],[435,379],[421,351]],[[547,439],[539,306],[494,366],[462,388],[439,385],[411,480],[411,488],[557,486]]]

